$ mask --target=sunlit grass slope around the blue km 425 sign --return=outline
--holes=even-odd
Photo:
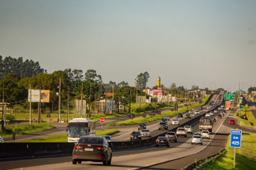
[[[243,133],[242,146],[236,148],[236,164],[234,163],[234,148],[230,146],[230,135],[225,147],[227,151],[216,160],[210,161],[204,169],[243,169],[251,170],[256,167],[256,134]]]

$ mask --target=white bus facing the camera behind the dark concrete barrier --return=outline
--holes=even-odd
[[[96,122],[86,118],[75,118],[69,120],[66,131],[68,132],[68,142],[76,143],[81,136],[96,135]]]

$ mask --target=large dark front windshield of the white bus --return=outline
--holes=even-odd
[[[69,122],[69,137],[81,137],[84,135],[88,135],[88,122]]]

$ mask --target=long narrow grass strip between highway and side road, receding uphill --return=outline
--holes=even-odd
[[[133,120],[125,120],[122,122],[116,122],[115,125],[135,125],[135,124],[139,124],[141,122],[153,122],[155,120],[160,120],[164,117],[164,115],[169,115],[169,117],[172,117],[178,113],[184,113],[186,111],[189,111],[190,109],[199,106],[199,105],[205,105],[205,102],[207,101],[207,99],[210,97],[210,95],[208,95],[207,97],[205,97],[205,100],[202,104],[199,103],[195,103],[193,105],[187,105],[181,108],[178,108],[178,111],[168,111],[165,112],[164,114],[157,114],[155,117],[151,117],[151,116],[146,116],[145,118],[143,117],[136,117]],[[113,126],[113,122],[108,123],[107,125]]]

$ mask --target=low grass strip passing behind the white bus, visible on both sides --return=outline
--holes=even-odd
[[[119,132],[118,129],[104,129],[96,131],[96,136],[110,135]],[[33,140],[21,140],[19,143],[67,143],[67,134],[51,135],[49,137],[40,137]]]

